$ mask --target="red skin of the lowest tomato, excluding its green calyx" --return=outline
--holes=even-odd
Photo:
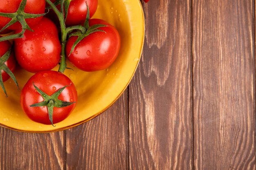
[[[25,86],[22,88],[20,95],[20,104],[22,110],[27,116],[33,121],[42,124],[51,124],[48,115],[47,106],[31,107],[30,105],[43,102],[43,97],[36,91],[38,87],[41,91],[47,95],[53,95],[56,91],[64,86],[67,86],[62,93],[58,96],[58,99],[65,102],[77,102],[77,92],[73,82],[64,74],[57,71],[41,71],[34,74],[27,81]],[[70,115],[72,110],[75,108],[76,103],[62,108],[53,108],[53,124],[63,121]]]

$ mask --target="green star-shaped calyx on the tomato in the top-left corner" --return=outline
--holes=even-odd
[[[0,32],[3,31],[4,29],[6,29],[7,27],[11,26],[15,22],[20,22],[20,24],[22,26],[22,31],[20,33],[16,33],[16,34],[13,34],[13,35],[8,35],[8,36],[1,37],[0,41],[11,40],[11,39],[15,39],[15,38],[22,38],[23,34],[26,30],[33,31],[29,27],[29,25],[27,24],[25,19],[27,19],[27,18],[37,18],[37,17],[43,16],[43,15],[46,14],[46,13],[42,13],[42,14],[25,13],[26,3],[27,3],[27,0],[22,0],[20,2],[20,6],[19,6],[18,10],[15,13],[0,13],[0,16],[11,18],[11,21],[8,22],[0,30]]]

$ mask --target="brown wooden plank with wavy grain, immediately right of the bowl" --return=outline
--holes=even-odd
[[[152,0],[143,8],[144,52],[129,86],[130,170],[190,170],[190,1]]]

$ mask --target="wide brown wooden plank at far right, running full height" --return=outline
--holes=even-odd
[[[196,170],[254,170],[252,0],[193,0]]]

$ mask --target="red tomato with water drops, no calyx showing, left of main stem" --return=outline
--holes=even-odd
[[[23,38],[14,39],[18,63],[25,70],[34,73],[54,68],[60,60],[61,53],[61,43],[55,24],[43,17],[31,28],[34,32],[26,30]]]

